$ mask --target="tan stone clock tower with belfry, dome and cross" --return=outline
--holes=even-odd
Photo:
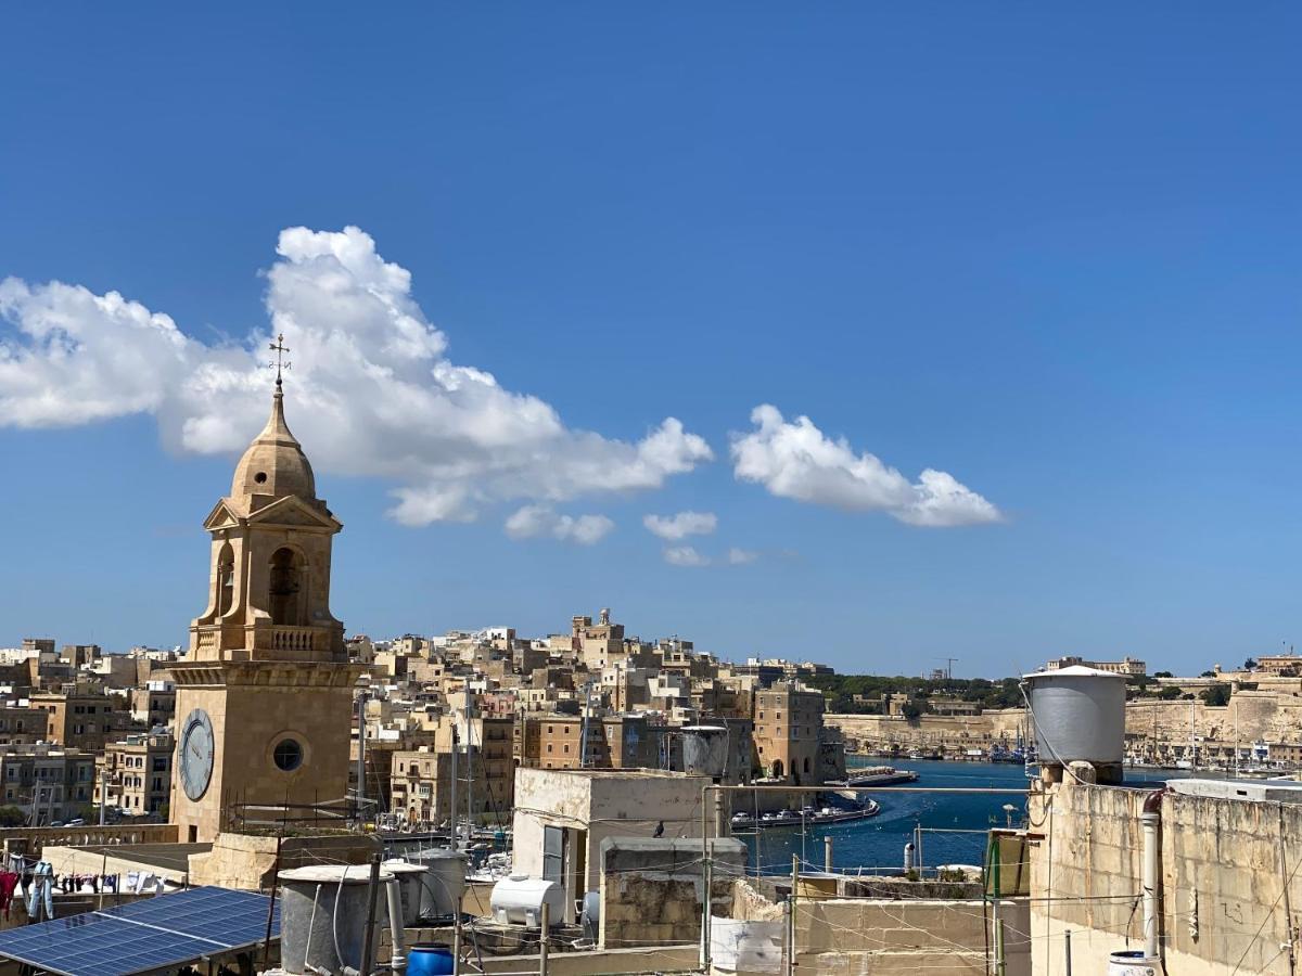
[[[329,612],[342,524],[316,497],[285,423],[279,370],[267,426],[203,527],[208,605],[173,668],[172,821],[182,842],[214,839],[240,804],[328,803],[348,789],[353,685],[365,669],[349,662]]]

